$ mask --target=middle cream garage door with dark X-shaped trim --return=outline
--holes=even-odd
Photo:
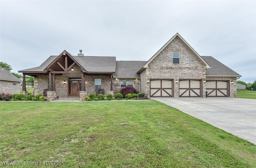
[[[180,80],[180,97],[201,97],[201,80]]]

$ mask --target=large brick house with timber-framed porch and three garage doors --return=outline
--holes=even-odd
[[[117,61],[116,57],[72,56],[66,50],[50,56],[40,66],[26,70],[34,76],[34,94],[47,91],[47,99],[79,96],[80,100],[98,89],[115,95],[125,86],[150,97],[236,97],[234,72],[211,56],[200,56],[175,34],[148,61]],[[49,80],[51,79],[51,80]],[[22,92],[26,94],[26,83]],[[46,91],[45,91],[46,92]]]

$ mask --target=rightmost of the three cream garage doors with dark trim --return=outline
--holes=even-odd
[[[206,81],[208,97],[228,97],[228,81]]]

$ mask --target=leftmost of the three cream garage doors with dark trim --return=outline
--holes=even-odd
[[[172,80],[150,80],[150,97],[172,97]]]

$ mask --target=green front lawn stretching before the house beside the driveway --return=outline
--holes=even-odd
[[[256,167],[256,145],[153,100],[0,102],[0,125],[22,166]]]

